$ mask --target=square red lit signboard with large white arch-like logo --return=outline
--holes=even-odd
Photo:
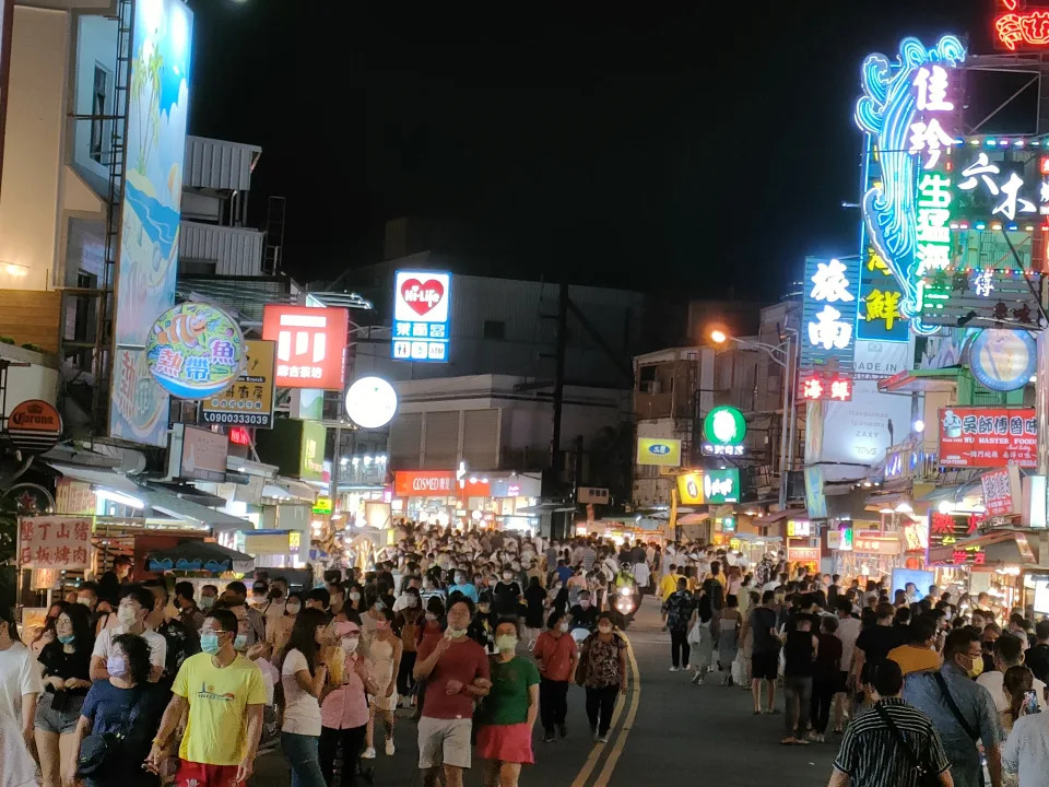
[[[342,390],[350,312],[267,304],[262,338],[276,342],[278,388]]]

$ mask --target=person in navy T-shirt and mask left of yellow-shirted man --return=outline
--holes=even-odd
[[[63,752],[66,784],[76,784],[78,757],[87,735],[125,736],[98,773],[91,773],[86,787],[127,787],[158,784],[156,775],[142,770],[150,740],[164,713],[165,694],[150,683],[150,646],[135,634],[120,634],[111,644],[106,662],[108,678],[95,681],[84,698],[72,744]]]

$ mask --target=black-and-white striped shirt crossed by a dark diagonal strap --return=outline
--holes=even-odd
[[[880,700],[928,773],[951,767],[929,717],[898,697]],[[845,731],[834,766],[848,774],[852,787],[919,787],[917,770],[896,737],[873,709],[860,714]]]

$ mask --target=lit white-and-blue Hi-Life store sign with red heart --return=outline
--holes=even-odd
[[[393,277],[393,359],[448,363],[451,273],[397,271]]]

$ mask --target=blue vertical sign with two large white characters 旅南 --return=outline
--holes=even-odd
[[[801,368],[835,361],[852,368],[859,260],[805,258],[805,301],[802,312]]]

